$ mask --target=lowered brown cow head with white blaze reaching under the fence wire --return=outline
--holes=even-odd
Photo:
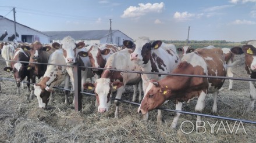
[[[144,115],[159,107],[166,101],[166,96],[170,93],[171,91],[168,87],[159,85],[157,80],[150,80],[150,83],[145,90],[145,96],[141,101],[140,107],[138,107],[138,112],[141,112]]]

